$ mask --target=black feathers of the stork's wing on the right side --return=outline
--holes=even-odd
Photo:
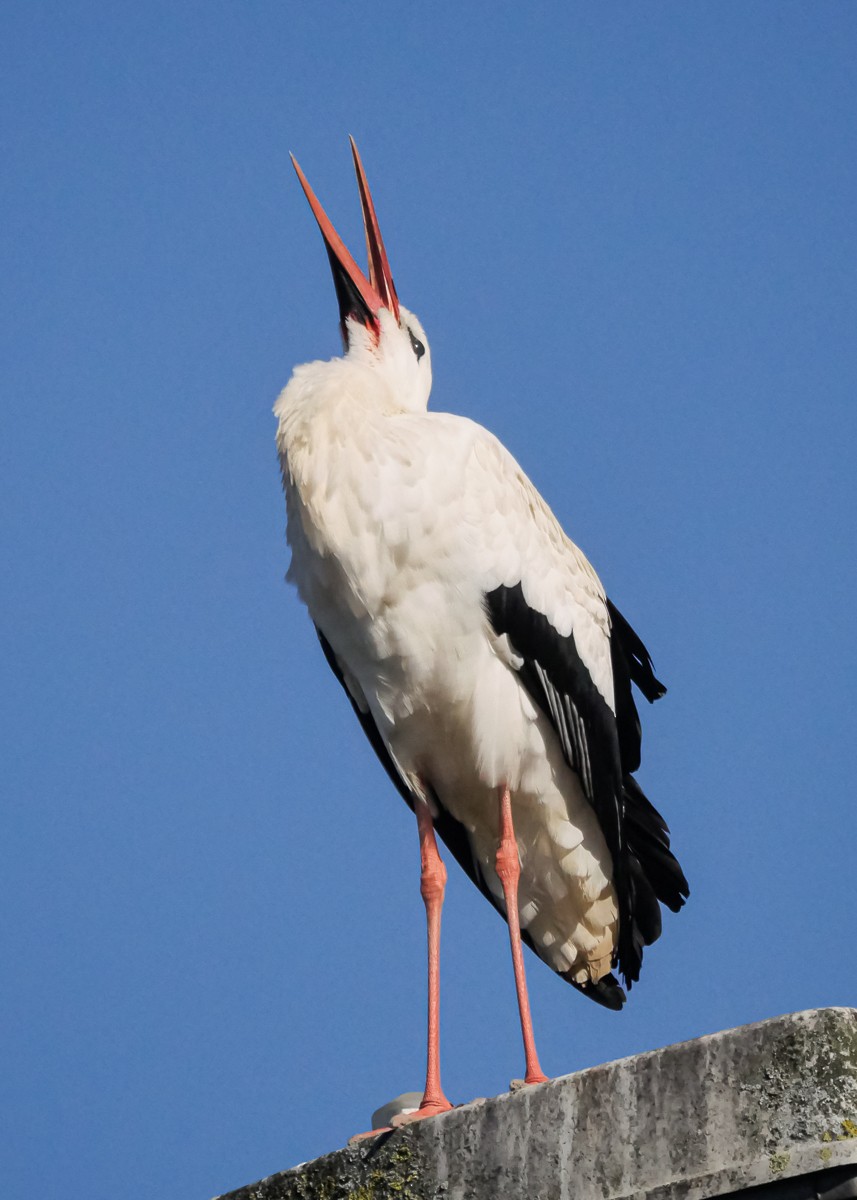
[[[523,659],[521,680],[553,725],[604,832],[619,902],[615,965],[630,988],[640,978],[643,946],[660,935],[658,901],[679,908],[688,884],[670,851],[666,823],[631,775],[640,766],[641,742],[631,683],[649,701],[666,689],[655,679],[643,643],[607,604],[616,714],[595,688],[574,631],[562,637],[544,613],[527,604],[521,583],[498,587],[485,598],[493,630],[505,634]]]

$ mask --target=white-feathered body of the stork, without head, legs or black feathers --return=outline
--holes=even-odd
[[[553,616],[568,624],[577,610],[577,628],[591,625],[593,670],[601,667],[612,702],[600,584],[486,430],[396,410],[371,377],[362,397],[354,383],[343,397],[337,367],[312,364],[308,402],[298,372],[277,407],[289,578],[403,780],[433,793],[463,827],[501,904],[497,791],[508,784],[522,925],[555,970],[599,979],[617,924],[610,852],[549,719],[521,684],[520,658],[490,625],[486,596],[525,577],[538,605],[558,586],[565,612]],[[331,394],[318,386],[325,368]],[[336,431],[346,419],[343,439]]]

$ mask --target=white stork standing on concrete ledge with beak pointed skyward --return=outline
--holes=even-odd
[[[415,811],[428,926],[428,1051],[439,1070],[435,833],[509,924],[526,1082],[545,1080],[521,941],[621,1008],[659,901],[688,895],[667,827],[633,773],[631,694],[664,694],[637,635],[501,443],[426,412],[431,355],[400,305],[352,140],[368,277],[300,167],[340,305],[342,358],[295,368],[277,400],[288,578],[394,785]]]

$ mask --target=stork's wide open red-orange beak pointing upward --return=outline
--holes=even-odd
[[[304,188],[304,194],[310,202],[312,215],[318,222],[318,228],[322,230],[322,238],[324,238],[324,245],[328,250],[330,270],[334,275],[334,287],[336,288],[336,299],[340,305],[340,329],[346,346],[348,344],[348,326],[346,324],[348,318],[359,320],[366,326],[366,329],[370,329],[376,337],[380,334],[380,322],[378,314],[382,308],[389,308],[396,320],[398,320],[398,296],[396,295],[396,288],[392,283],[390,264],[386,258],[386,251],[384,250],[380,229],[378,228],[378,218],[374,214],[372,193],[370,192],[368,184],[366,182],[366,174],[362,169],[362,163],[360,162],[360,155],[358,154],[358,148],[354,144],[354,138],[352,138],[350,142],[352,154],[354,156],[354,169],[356,170],[358,176],[358,187],[360,188],[362,223],[364,229],[366,230],[368,278],[366,278],[349,254],[344,242],[334,229],[328,214],[318,202],[316,193],[310,187],[306,175],[298,166],[296,158],[292,155],[292,164],[298,173],[300,186]]]

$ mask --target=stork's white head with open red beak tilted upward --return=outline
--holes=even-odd
[[[398,302],[366,174],[354,138],[350,142],[366,230],[368,277],[349,254],[306,175],[292,157],[328,250],[340,304],[340,331],[346,358],[382,373],[402,408],[425,409],[431,391],[428,342],[416,317]]]

